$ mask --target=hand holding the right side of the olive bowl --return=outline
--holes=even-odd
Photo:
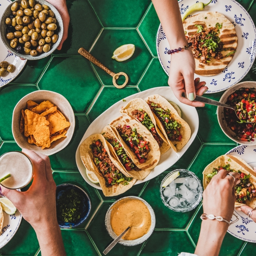
[[[51,3],[58,10],[63,20],[63,26],[64,26],[63,38],[60,42],[60,45],[57,47],[58,50],[61,50],[64,41],[68,38],[68,26],[70,21],[66,0],[47,0],[47,1]]]

